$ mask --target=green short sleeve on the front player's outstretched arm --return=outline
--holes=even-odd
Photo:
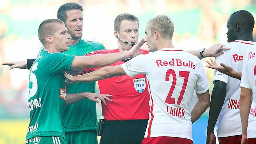
[[[50,66],[50,73],[62,72],[64,70],[70,71],[70,67],[74,58],[74,55],[68,55],[63,53],[50,54],[46,58],[47,64]]]

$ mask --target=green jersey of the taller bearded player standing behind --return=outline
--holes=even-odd
[[[103,44],[95,41],[80,39],[77,44],[69,46],[65,54],[84,56],[85,54],[105,49]],[[83,73],[83,72],[81,72]],[[95,82],[80,82],[67,85],[67,93],[94,92]],[[75,104],[66,106],[63,116],[65,132],[76,132],[82,130],[97,130],[96,103],[88,99],[81,100]]]

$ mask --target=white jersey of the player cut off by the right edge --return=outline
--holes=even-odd
[[[252,89],[247,138],[256,138],[256,46],[249,48],[245,54],[240,86]]]

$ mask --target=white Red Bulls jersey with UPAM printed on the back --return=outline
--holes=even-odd
[[[235,40],[224,44],[230,50],[223,50],[224,54],[215,58],[216,63],[219,65],[221,62],[231,66],[234,70],[242,72],[244,54],[249,47],[256,44],[256,42]],[[242,124],[239,111],[240,99],[240,80],[232,78],[214,71],[213,83],[215,80],[220,80],[227,84],[226,98],[220,111],[217,121],[217,137],[228,137],[242,134]]]

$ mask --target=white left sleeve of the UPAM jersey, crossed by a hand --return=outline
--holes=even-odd
[[[217,56],[215,58],[216,63],[218,66],[220,66],[220,63],[224,63],[226,65],[228,64],[228,60],[226,59],[226,54],[224,51],[224,54]],[[213,75],[213,84],[215,83],[215,80],[220,80],[222,82],[225,82],[226,84],[228,83],[228,76],[226,74],[223,74],[222,72],[219,72],[218,70],[214,70],[214,75]]]

